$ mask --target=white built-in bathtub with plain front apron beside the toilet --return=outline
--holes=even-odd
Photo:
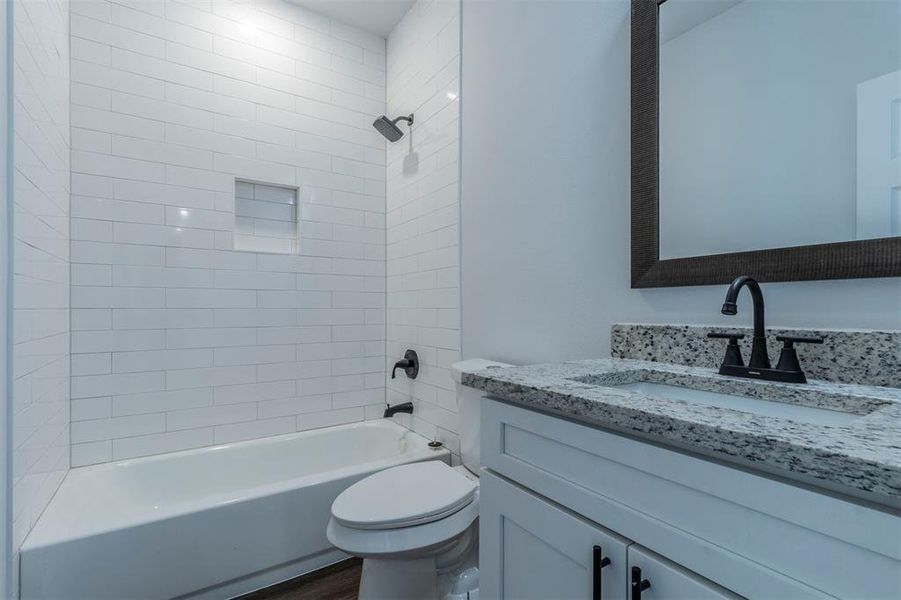
[[[369,421],[72,469],[21,549],[25,599],[229,598],[345,555],[332,501],[447,450]]]

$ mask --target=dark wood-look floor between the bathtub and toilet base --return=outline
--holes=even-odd
[[[362,568],[362,559],[351,558],[237,600],[357,600]]]

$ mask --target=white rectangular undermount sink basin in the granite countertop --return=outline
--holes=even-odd
[[[786,402],[770,402],[768,400],[758,400],[746,396],[733,396],[731,394],[721,394],[719,392],[693,390],[662,383],[639,381],[621,385],[610,385],[608,387],[637,392],[645,396],[667,398],[670,400],[683,400],[701,406],[731,408],[732,410],[739,410],[756,415],[780,417],[815,425],[848,425],[855,419],[861,417],[861,415],[839,412],[836,410],[813,408]]]

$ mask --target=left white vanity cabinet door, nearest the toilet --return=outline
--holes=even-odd
[[[482,598],[626,597],[625,539],[490,472],[479,487]]]

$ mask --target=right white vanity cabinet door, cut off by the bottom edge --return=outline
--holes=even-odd
[[[632,544],[629,554],[630,600],[736,600],[741,596]]]

